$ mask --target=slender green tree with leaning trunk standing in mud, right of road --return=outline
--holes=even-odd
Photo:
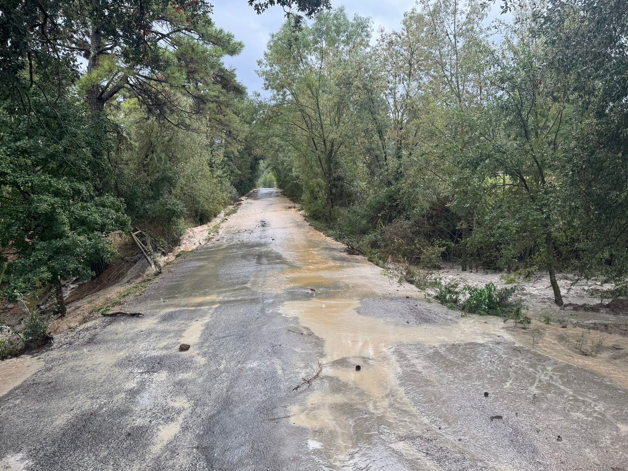
[[[468,120],[477,138],[459,160],[468,173],[458,181],[466,191],[457,200],[475,201],[475,244],[494,254],[500,268],[526,259],[547,269],[562,305],[556,271],[562,264],[558,241],[566,237],[563,181],[573,119],[567,90],[553,77],[544,40],[533,35],[527,18],[502,31],[486,105]]]

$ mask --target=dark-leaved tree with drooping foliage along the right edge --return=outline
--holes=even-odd
[[[575,268],[625,283],[628,3],[551,0],[536,21],[548,45],[546,63],[569,91],[578,122],[563,185],[568,224],[578,232]]]

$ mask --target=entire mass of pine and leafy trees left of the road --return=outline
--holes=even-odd
[[[242,43],[198,0],[0,3],[1,293],[95,276],[134,225],[173,244],[257,178]],[[305,12],[307,13],[307,12]]]

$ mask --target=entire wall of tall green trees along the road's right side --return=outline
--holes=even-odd
[[[350,246],[462,269],[628,271],[628,3],[422,1],[372,41],[343,8],[271,36],[264,151]]]

